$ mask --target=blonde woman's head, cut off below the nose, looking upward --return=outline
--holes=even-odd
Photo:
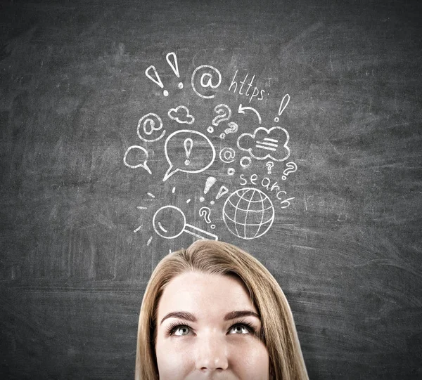
[[[136,352],[136,380],[205,378],[307,379],[279,284],[250,254],[209,240],[153,271]]]

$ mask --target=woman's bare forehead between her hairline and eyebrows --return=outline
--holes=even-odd
[[[245,284],[233,275],[187,272],[174,277],[158,303],[158,318],[175,310],[200,315],[220,315],[231,310],[257,313]]]

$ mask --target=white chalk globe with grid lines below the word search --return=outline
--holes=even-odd
[[[245,240],[255,239],[271,228],[274,206],[261,190],[242,188],[226,199],[223,221],[233,235]]]

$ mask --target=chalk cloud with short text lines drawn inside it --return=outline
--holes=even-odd
[[[288,148],[288,131],[281,126],[266,129],[262,126],[252,133],[243,133],[238,137],[237,145],[241,150],[249,152],[255,159],[271,159],[284,161],[290,156]]]

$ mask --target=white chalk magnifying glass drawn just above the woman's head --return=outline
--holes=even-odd
[[[218,240],[217,235],[201,230],[186,223],[186,216],[178,207],[167,205],[160,207],[153,216],[153,228],[158,236],[174,239],[183,232],[199,239]]]

